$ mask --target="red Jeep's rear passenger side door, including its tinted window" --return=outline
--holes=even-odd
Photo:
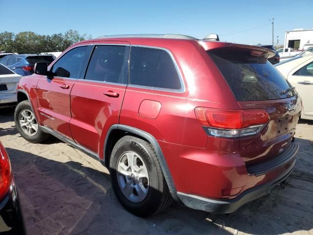
[[[103,151],[99,146],[108,129],[118,123],[128,82],[128,58],[127,42],[95,45],[82,73],[84,79],[75,82],[70,94],[72,137],[96,155]]]

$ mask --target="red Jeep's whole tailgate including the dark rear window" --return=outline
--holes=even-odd
[[[301,100],[291,85],[253,48],[228,47],[208,51],[242,109],[263,109],[269,122],[256,135],[240,137],[239,152],[247,165],[269,160],[291,144],[301,112]]]

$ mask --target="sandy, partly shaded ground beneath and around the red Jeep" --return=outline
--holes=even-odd
[[[15,129],[13,109],[0,109],[0,141],[11,159],[29,235],[313,235],[313,121],[297,126],[300,151],[286,188],[229,215],[174,203],[153,218],[138,218],[115,198],[108,169],[54,138],[25,141]]]

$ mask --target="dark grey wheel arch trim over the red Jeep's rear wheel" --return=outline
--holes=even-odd
[[[161,169],[162,169],[164,178],[166,180],[167,186],[171,192],[176,192],[177,190],[176,190],[171,172],[168,168],[168,165],[164,158],[161,147],[156,141],[156,138],[154,138],[150,133],[140,130],[138,128],[134,128],[134,127],[127,126],[127,125],[120,125],[120,124],[114,124],[109,128],[105,142],[104,142],[104,149],[103,149],[104,164],[107,167],[109,167],[112,148],[115,145],[115,143],[125,135],[134,135],[152,144],[152,146],[154,147],[156,151],[156,156],[161,165]]]

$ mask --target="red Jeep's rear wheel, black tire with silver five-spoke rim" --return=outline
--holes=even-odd
[[[134,159],[133,164],[130,159]],[[137,216],[154,215],[173,202],[156,151],[147,141],[133,136],[117,141],[111,154],[110,176],[119,202]]]

